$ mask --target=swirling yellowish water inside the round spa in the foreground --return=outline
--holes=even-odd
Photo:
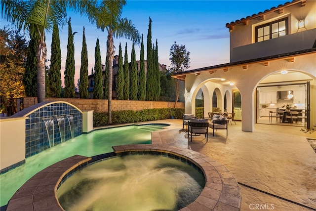
[[[77,171],[57,190],[67,211],[177,211],[194,202],[205,185],[201,173],[157,155],[127,155]]]

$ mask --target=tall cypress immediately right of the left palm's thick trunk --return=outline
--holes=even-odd
[[[61,92],[61,49],[58,31],[58,25],[54,23],[51,41],[50,69],[48,72],[49,83],[46,83],[49,86],[49,90],[47,90],[48,92],[46,92],[46,94],[49,93],[50,97],[60,97]]]

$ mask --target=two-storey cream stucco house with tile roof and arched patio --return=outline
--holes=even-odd
[[[185,112],[195,114],[201,89],[204,116],[215,92],[217,107],[236,113],[243,131],[284,104],[303,111],[305,127],[316,127],[315,14],[315,0],[294,0],[227,23],[230,63],[173,76],[185,81]],[[281,91],[294,96],[282,98]]]

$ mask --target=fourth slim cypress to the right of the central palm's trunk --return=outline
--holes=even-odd
[[[138,76],[138,100],[146,100],[146,75],[145,75],[145,56],[144,56],[144,41],[140,47],[140,69]]]

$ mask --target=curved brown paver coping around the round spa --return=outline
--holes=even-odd
[[[154,151],[160,152],[162,155],[184,158],[188,163],[196,165],[204,174],[205,186],[197,199],[182,208],[181,211],[240,211],[241,193],[236,179],[228,169],[206,155],[167,145],[135,144],[112,148],[114,149],[113,155],[133,154],[135,151]],[[76,170],[88,166],[89,163],[97,162],[101,157],[94,156],[92,159],[75,155],[41,170],[12,196],[8,202],[7,211],[63,211],[56,198],[56,190],[62,180]]]

